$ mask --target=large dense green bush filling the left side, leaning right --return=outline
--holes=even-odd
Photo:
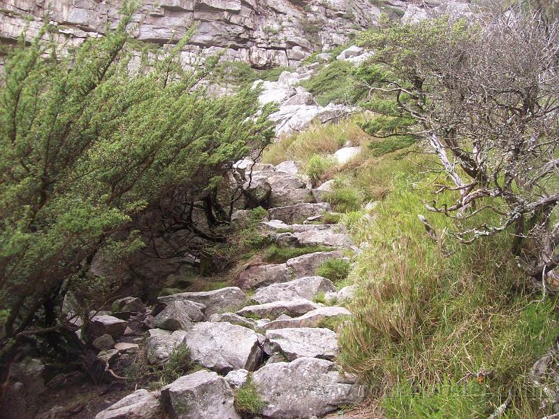
[[[112,285],[92,262],[152,246],[146,215],[175,232],[196,229],[196,208],[210,227],[227,222],[233,207],[219,202],[217,186],[272,136],[270,110],[253,117],[257,90],[210,98],[200,82],[212,60],[182,69],[177,55],[188,36],[133,61],[132,12],[125,4],[115,30],[66,56],[43,41],[45,24],[8,57],[0,81],[3,362],[31,334],[51,345],[60,334],[72,339],[66,296],[87,322]]]

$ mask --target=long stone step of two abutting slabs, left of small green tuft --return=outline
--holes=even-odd
[[[313,276],[316,270],[326,260],[343,257],[340,250],[332,252],[314,252],[307,255],[293,257],[282,264],[268,264],[249,267],[242,271],[237,283],[243,290],[261,287],[273,283],[284,283],[293,279]]]

